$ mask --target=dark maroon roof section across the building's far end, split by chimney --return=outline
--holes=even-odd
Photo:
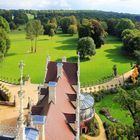
[[[63,70],[68,77],[71,85],[77,85],[77,64],[76,63],[63,63]],[[57,81],[57,62],[50,61],[48,63],[48,71],[46,76],[46,83],[49,81]]]

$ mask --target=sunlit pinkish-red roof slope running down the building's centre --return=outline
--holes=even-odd
[[[67,124],[64,114],[75,114],[75,109],[69,102],[67,96],[76,94],[71,87],[65,72],[62,78],[58,79],[56,86],[56,103],[51,103],[46,119],[46,139],[47,140],[73,140],[75,135]],[[74,117],[74,116],[73,116]],[[73,119],[74,120],[74,119]]]

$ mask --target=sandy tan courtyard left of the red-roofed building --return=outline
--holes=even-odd
[[[11,85],[11,84],[7,84],[7,83],[2,83],[5,87],[7,87],[7,89],[9,89],[9,91],[12,94],[12,97],[10,99],[10,101],[14,101],[14,96],[16,98],[16,107],[8,107],[8,106],[3,106],[0,105],[0,123],[4,124],[4,125],[10,125],[10,126],[15,126],[16,122],[17,122],[17,118],[19,115],[19,98],[18,98],[18,91],[20,89],[19,85]],[[28,109],[27,109],[27,105],[28,105],[28,98],[30,97],[32,99],[33,104],[37,103],[38,100],[38,85],[37,84],[31,84],[31,83],[26,83],[23,86],[23,90],[24,92],[24,111],[25,111],[25,115],[28,114]]]

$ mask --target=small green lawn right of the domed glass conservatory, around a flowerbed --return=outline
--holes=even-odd
[[[127,110],[123,110],[118,103],[113,101],[114,96],[115,95],[107,95],[100,102],[95,103],[96,113],[100,116],[103,122],[110,122],[104,115],[99,113],[100,109],[105,107],[109,110],[113,118],[118,119],[121,123],[132,125],[133,120],[130,115],[128,115],[129,112]]]

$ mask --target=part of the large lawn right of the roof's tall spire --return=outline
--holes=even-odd
[[[103,80],[112,75],[112,67],[117,65],[118,74],[130,70],[130,60],[121,52],[122,43],[115,37],[109,36],[104,46],[96,50],[96,55],[90,61],[81,63],[81,80]],[[85,80],[86,79],[86,80]]]

